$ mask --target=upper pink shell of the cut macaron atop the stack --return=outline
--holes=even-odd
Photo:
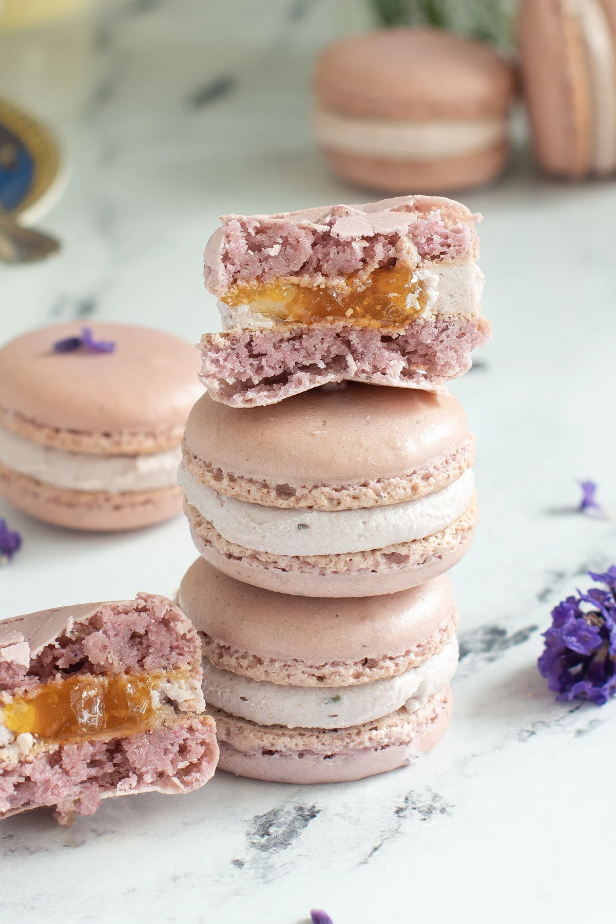
[[[205,285],[223,296],[236,283],[296,277],[303,285],[372,272],[405,252],[419,261],[477,259],[480,215],[437,196],[334,205],[275,215],[223,215],[204,253]]]

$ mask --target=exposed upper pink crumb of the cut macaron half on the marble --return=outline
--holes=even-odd
[[[136,600],[102,603],[89,618],[75,620],[30,663],[6,661],[0,653],[0,692],[16,693],[65,673],[195,668],[199,659],[199,637],[181,610],[166,597],[140,593]]]

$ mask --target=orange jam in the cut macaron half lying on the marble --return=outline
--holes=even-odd
[[[151,727],[154,675],[75,676],[44,684],[3,707],[3,723],[15,735],[46,741],[134,734]]]

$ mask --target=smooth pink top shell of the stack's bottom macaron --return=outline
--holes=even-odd
[[[437,654],[458,615],[449,579],[385,597],[314,599],[250,587],[199,558],[178,602],[216,667],[298,687],[352,686]]]

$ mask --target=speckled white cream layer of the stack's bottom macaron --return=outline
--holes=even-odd
[[[259,725],[348,728],[389,715],[402,706],[420,709],[445,687],[458,663],[455,638],[439,654],[404,674],[356,687],[292,687],[251,680],[203,661],[203,695],[210,706]]]

